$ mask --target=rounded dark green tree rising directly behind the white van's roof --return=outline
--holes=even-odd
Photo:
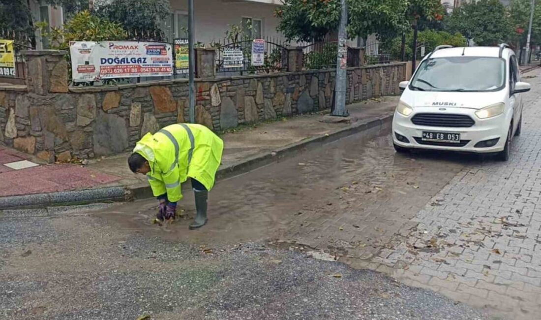
[[[477,45],[496,45],[511,34],[505,6],[498,0],[479,0],[460,6],[447,22],[451,32],[460,32]]]

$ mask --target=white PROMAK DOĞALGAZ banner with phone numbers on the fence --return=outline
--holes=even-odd
[[[140,41],[70,42],[75,82],[173,75],[171,45]]]

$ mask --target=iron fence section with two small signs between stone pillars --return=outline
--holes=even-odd
[[[219,76],[275,73],[287,70],[288,43],[274,37],[230,40],[212,43],[216,49],[216,73]],[[254,55],[253,46],[256,46]],[[256,60],[252,61],[252,58]]]

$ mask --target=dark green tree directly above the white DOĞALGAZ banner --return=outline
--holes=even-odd
[[[96,3],[96,14],[123,25],[128,31],[163,38],[162,21],[169,17],[168,0],[101,0]]]

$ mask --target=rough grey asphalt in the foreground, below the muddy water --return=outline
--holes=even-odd
[[[3,319],[485,318],[380,273],[268,244],[177,243],[91,213],[0,221]]]

